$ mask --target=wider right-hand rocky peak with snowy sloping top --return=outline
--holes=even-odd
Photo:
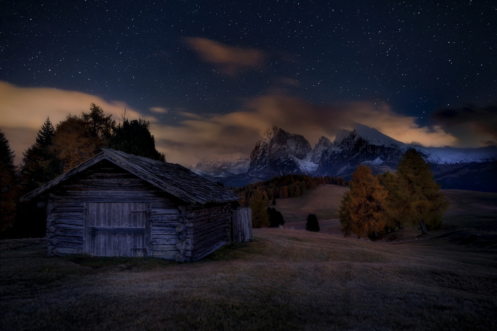
[[[362,136],[357,130],[344,131],[322,151],[316,173],[343,176],[353,172],[359,164],[395,168],[406,148],[392,143],[376,145],[374,139]]]

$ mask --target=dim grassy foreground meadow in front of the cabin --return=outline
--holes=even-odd
[[[496,330],[497,195],[446,194],[443,229],[412,240],[254,229],[190,264],[1,241],[0,328]]]

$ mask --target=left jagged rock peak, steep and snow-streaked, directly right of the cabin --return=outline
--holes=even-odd
[[[248,172],[263,176],[301,174],[299,160],[305,160],[310,152],[311,144],[304,136],[273,127],[255,142]]]

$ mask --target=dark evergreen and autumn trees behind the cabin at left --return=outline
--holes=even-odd
[[[22,195],[96,155],[101,148],[166,161],[157,151],[150,122],[130,120],[124,110],[119,123],[101,107],[90,104],[89,112],[68,115],[55,127],[47,117],[35,142],[14,166],[14,153],[0,130],[1,237],[40,236],[45,232],[44,211],[29,202],[17,203]]]

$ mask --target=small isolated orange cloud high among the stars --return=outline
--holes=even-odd
[[[264,54],[259,50],[226,46],[206,38],[184,38],[184,42],[203,61],[218,66],[221,73],[230,76],[258,68],[264,60]]]

